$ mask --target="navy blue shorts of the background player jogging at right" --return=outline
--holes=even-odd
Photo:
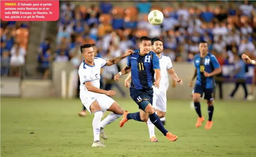
[[[204,93],[204,99],[213,101],[214,100],[214,88],[205,88],[201,85],[195,85],[194,90],[192,91],[193,93],[199,93],[201,94],[201,97],[203,97]]]

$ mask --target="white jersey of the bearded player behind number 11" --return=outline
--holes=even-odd
[[[168,56],[161,55],[159,58],[159,65],[161,69],[161,80],[159,89],[168,89],[169,86],[169,77],[167,69],[173,68],[173,64],[171,62],[171,58]],[[167,88],[166,88],[167,87]]]

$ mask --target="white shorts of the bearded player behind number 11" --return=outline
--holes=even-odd
[[[153,87],[153,107],[159,111],[166,112],[166,88],[155,88]]]

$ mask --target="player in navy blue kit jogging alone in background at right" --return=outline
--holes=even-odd
[[[189,83],[192,87],[193,81],[197,76],[196,85],[192,91],[192,97],[194,101],[194,107],[198,114],[196,127],[200,127],[204,122],[204,117],[201,114],[200,97],[203,96],[207,100],[209,119],[206,122],[205,129],[212,127],[212,115],[214,111],[213,100],[214,100],[214,88],[215,81],[214,75],[220,74],[221,67],[216,57],[208,52],[207,42],[199,43],[199,54],[194,56],[194,66],[196,67],[194,76]]]

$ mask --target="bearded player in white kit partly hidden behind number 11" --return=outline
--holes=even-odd
[[[163,51],[163,42],[156,38],[155,40],[153,40],[152,42],[152,48],[153,51],[157,54],[158,58],[159,58],[159,64],[160,64],[160,69],[161,69],[161,80],[160,80],[160,84],[159,84],[159,89],[153,86],[153,107],[155,109],[157,109],[157,115],[160,118],[160,120],[165,117],[165,113],[166,113],[166,91],[168,89],[168,83],[169,83],[169,79],[168,79],[168,74],[170,74],[172,76],[172,78],[179,82],[180,84],[182,84],[182,80],[178,78],[178,76],[176,75],[174,69],[173,69],[173,65],[171,62],[170,57],[168,56],[164,56],[162,54]],[[129,74],[129,76],[126,78],[125,80],[125,86],[126,87],[130,87],[129,81],[132,79],[132,75],[131,73]],[[155,125],[153,125],[153,123],[150,121],[150,119],[148,120],[148,131],[149,131],[149,138],[150,141],[152,142],[157,142],[157,138],[155,136]]]

